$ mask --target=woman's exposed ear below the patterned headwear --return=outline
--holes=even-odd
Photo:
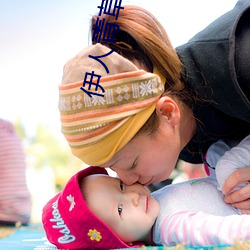
[[[180,109],[178,104],[169,96],[162,96],[156,104],[156,113],[160,119],[166,120],[175,126],[180,122]]]

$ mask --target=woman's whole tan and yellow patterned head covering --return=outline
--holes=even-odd
[[[80,52],[65,65],[59,86],[62,133],[72,153],[94,166],[110,160],[133,138],[164,92],[165,80],[159,74],[139,70],[116,52],[100,58],[108,74],[100,62],[89,57],[109,52],[101,44]],[[95,85],[89,91],[104,96],[90,97],[80,89],[86,72],[92,71],[101,75],[99,85],[105,92],[96,90]],[[97,77],[93,82],[97,82]],[[85,88],[88,89],[88,84]]]

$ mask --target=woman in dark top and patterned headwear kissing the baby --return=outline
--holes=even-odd
[[[176,51],[160,23],[142,8],[125,6],[117,20],[94,16],[92,31],[98,18],[119,25],[119,31],[116,43],[102,36],[102,45],[93,41],[97,44],[65,65],[60,111],[72,152],[87,164],[113,169],[128,185],[149,185],[168,178],[178,158],[202,163],[212,143],[250,134],[249,12],[250,1],[239,1]],[[107,55],[110,49],[115,52],[102,58],[108,75],[88,55]],[[102,76],[104,99],[88,99],[76,88],[93,70]],[[250,167],[238,170],[226,190],[249,179]],[[225,201],[250,211],[249,191],[247,185]]]

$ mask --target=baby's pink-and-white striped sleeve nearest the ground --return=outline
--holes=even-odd
[[[185,243],[192,246],[233,244],[250,239],[250,216],[215,216],[203,212],[172,211],[161,227],[164,245]]]

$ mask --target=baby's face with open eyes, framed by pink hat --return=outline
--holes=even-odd
[[[145,240],[159,214],[159,204],[141,184],[127,186],[105,175],[85,178],[88,206],[126,243]]]

